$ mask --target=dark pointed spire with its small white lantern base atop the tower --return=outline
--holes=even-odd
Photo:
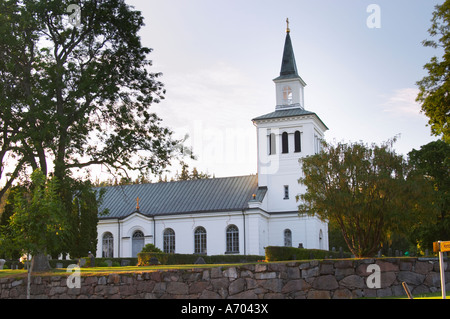
[[[294,48],[291,40],[289,19],[286,19],[286,40],[284,42],[283,59],[281,62],[280,76],[273,81],[277,90],[277,109],[302,108],[304,109],[303,88],[305,81],[298,75],[295,62]]]

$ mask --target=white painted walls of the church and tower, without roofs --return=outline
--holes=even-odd
[[[319,151],[319,141],[327,127],[316,114],[299,111],[304,110],[306,85],[300,77],[274,81],[275,111],[291,110],[298,114],[253,120],[258,143],[258,186],[267,187],[261,201],[250,199],[248,207],[238,211],[189,212],[169,216],[145,216],[135,212],[125,218],[101,219],[97,256],[133,257],[136,247],[147,243],[164,250],[164,233],[168,229],[174,233],[174,252],[193,254],[194,234],[198,227],[206,230],[206,251],[203,253],[208,255],[264,255],[266,246],[298,247],[299,244],[304,248],[328,250],[328,225],[314,217],[300,217],[296,200],[296,195],[305,192],[298,183],[302,174],[299,160]],[[286,153],[283,153],[283,134],[287,136]],[[298,134],[300,149],[296,146]],[[227,251],[230,225],[238,230],[238,247],[231,252]],[[133,238],[137,233],[143,238]],[[106,244],[105,235],[112,237],[112,242]],[[105,245],[111,245],[109,253],[106,253]]]

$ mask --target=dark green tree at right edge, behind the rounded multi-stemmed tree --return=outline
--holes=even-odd
[[[450,239],[450,145],[430,142],[408,154],[413,168],[432,184],[435,215],[427,223],[413,227],[412,239],[423,249],[431,249],[434,241]]]

